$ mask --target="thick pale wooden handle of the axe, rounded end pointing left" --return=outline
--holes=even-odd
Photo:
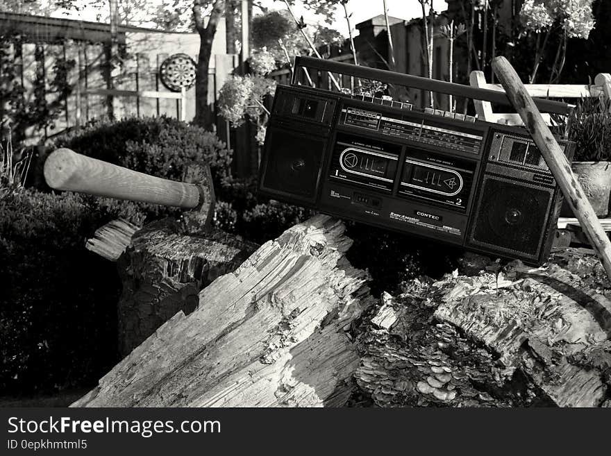
[[[58,190],[185,209],[200,205],[200,190],[195,184],[149,176],[70,149],[49,155],[44,162],[44,179]]]

